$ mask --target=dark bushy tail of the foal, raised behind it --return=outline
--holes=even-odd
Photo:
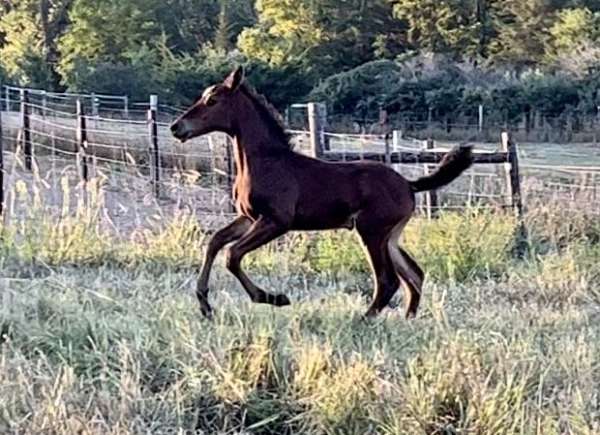
[[[458,146],[444,156],[434,173],[410,181],[413,192],[439,189],[454,181],[473,164],[473,147]]]

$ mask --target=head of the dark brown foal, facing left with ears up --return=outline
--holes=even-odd
[[[171,125],[173,135],[185,142],[213,131],[230,134],[235,97],[243,82],[244,70],[239,67],[223,83],[206,88],[202,96]]]

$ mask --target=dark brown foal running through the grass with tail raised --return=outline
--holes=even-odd
[[[406,316],[416,315],[424,274],[398,240],[415,210],[415,193],[457,178],[472,163],[470,147],[452,150],[434,173],[416,181],[379,163],[330,163],[295,153],[274,109],[244,84],[241,68],[207,88],[171,131],[182,142],[215,131],[234,141],[238,216],[213,235],[206,250],[197,287],[206,317],[212,316],[210,271],[225,245],[233,243],[227,268],[252,301],[284,306],[290,304],[287,296],[267,293],[248,278],[244,256],[288,231],[338,228],[355,228],[370,259],[375,292],[366,315],[383,310],[400,283]]]

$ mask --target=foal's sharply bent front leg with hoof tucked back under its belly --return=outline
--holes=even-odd
[[[250,278],[244,273],[241,266],[242,259],[246,254],[266,245],[287,231],[287,228],[278,225],[274,221],[260,217],[254,222],[248,232],[229,249],[227,268],[240,281],[253,302],[278,307],[290,305],[290,300],[286,295],[273,295],[256,286],[250,281]]]

